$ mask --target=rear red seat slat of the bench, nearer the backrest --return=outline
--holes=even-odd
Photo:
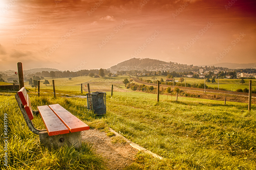
[[[52,112],[49,106],[37,106],[49,136],[69,133],[69,129]]]

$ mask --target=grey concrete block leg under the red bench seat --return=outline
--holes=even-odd
[[[62,135],[49,136],[47,131],[39,132],[39,141],[45,148],[57,149],[58,147],[67,145],[69,147],[79,149],[82,145],[81,132],[66,133]]]

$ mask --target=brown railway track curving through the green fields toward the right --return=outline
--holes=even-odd
[[[156,86],[155,83],[147,83],[147,82],[143,82],[137,78],[131,77],[133,79],[133,81],[137,82],[137,83],[142,83],[142,84],[147,84],[150,86]],[[159,84],[159,86],[161,87],[170,87],[173,88],[173,86],[170,85],[165,85],[165,84]],[[244,92],[234,92],[234,91],[226,91],[226,90],[214,90],[214,89],[200,89],[200,88],[193,88],[193,87],[181,87],[181,86],[175,86],[178,87],[179,89],[184,89],[184,90],[195,90],[195,91],[206,91],[206,92],[210,92],[210,93],[225,93],[225,94],[231,94],[231,95],[239,95],[239,96],[248,96],[248,93],[244,93]],[[255,98],[256,94],[252,93],[252,97]]]

